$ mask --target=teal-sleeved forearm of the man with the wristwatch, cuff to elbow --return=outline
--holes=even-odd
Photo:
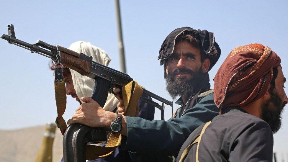
[[[121,141],[125,150],[175,156],[185,141],[186,135],[173,121],[148,121],[139,117],[126,117],[126,120],[127,139]]]

